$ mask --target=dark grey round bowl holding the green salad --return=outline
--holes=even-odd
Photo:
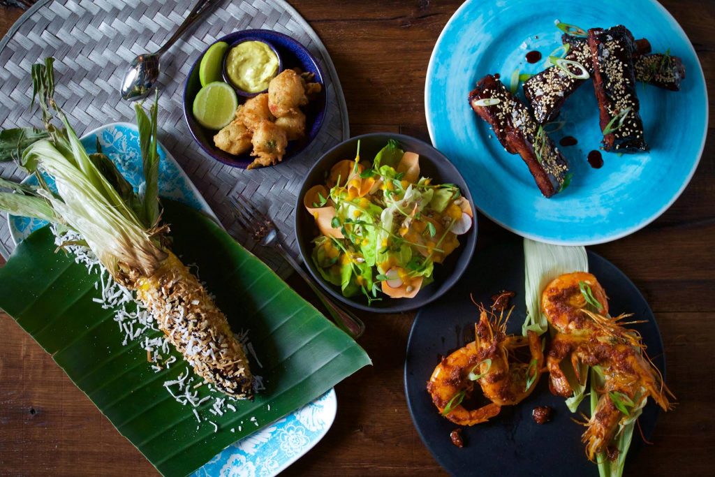
[[[452,252],[444,263],[435,264],[434,282],[423,287],[414,298],[390,298],[387,295],[380,294],[382,300],[375,301],[372,305],[368,306],[368,300],[363,295],[355,295],[349,298],[342,296],[340,287],[323,280],[320,273],[316,270],[315,264],[310,258],[310,254],[313,247],[312,240],[317,237],[318,230],[313,217],[305,210],[305,207],[303,207],[303,196],[310,187],[325,183],[325,177],[327,177],[327,173],[333,164],[342,159],[353,159],[355,157],[358,140],[360,140],[360,158],[363,161],[370,162],[375,157],[375,154],[385,147],[389,139],[395,139],[405,151],[420,154],[420,175],[423,177],[431,177],[434,184],[451,183],[457,185],[462,195],[469,201],[472,210],[475,212],[475,216],[472,228],[465,235],[460,235],[460,245],[457,250]],[[315,166],[310,169],[310,172],[308,172],[300,188],[295,205],[295,233],[303,262],[305,262],[310,274],[332,297],[360,310],[373,311],[375,313],[398,313],[415,310],[416,308],[420,308],[427,303],[437,300],[459,280],[469,265],[477,243],[476,209],[467,183],[461,174],[444,154],[430,146],[430,144],[403,134],[364,134],[363,136],[353,137],[337,144],[337,146],[323,154],[322,157],[317,160]]]

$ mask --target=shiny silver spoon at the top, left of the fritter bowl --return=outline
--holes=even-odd
[[[144,53],[134,58],[127,74],[124,74],[124,79],[122,80],[122,88],[119,90],[122,93],[122,98],[127,99],[127,101],[137,101],[137,99],[144,99],[149,96],[149,93],[152,92],[154,84],[159,78],[159,58],[161,58],[162,54],[167,52],[169,47],[174,44],[174,41],[177,41],[177,39],[189,29],[189,26],[194,24],[194,21],[201,18],[211,6],[217,4],[219,1],[220,0],[197,1],[192,11],[189,12],[189,16],[184,20],[184,23],[177,28],[177,31],[174,32],[172,37],[169,38],[156,53]]]

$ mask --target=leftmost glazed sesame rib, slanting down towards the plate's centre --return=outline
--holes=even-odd
[[[489,105],[480,100],[489,99]],[[498,100],[498,101],[497,101]],[[490,124],[499,142],[511,154],[519,154],[545,197],[561,190],[568,162],[531,113],[501,81],[488,74],[469,94],[469,104]]]

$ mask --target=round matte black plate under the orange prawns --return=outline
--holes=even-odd
[[[608,293],[612,315],[634,313],[636,319],[647,320],[632,327],[643,335],[649,356],[665,375],[661,335],[641,292],[621,270],[593,252],[588,252],[588,267]],[[464,448],[450,442],[450,431],[458,426],[439,415],[425,385],[440,356],[474,339],[478,311],[470,293],[477,303],[490,304],[491,295],[500,290],[516,292],[511,301],[516,308],[507,330],[521,333],[526,316],[521,241],[478,252],[462,280],[447,295],[418,313],[405,360],[405,394],[415,428],[435,459],[455,476],[598,476],[596,464],[588,461],[581,443],[584,428],[571,421],[580,416],[568,411],[563,398],[549,392],[548,375],[542,375],[536,390],[519,405],[502,408],[487,423],[463,428]],[[538,405],[554,409],[550,423],[540,426],[533,421],[531,411]],[[590,415],[588,397],[579,410]],[[649,400],[640,418],[646,438],[653,433],[658,412],[653,400]],[[636,430],[628,455],[632,457],[641,446]],[[627,467],[628,461],[626,475]]]

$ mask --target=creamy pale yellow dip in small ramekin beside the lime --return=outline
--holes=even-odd
[[[226,57],[231,82],[247,93],[259,93],[278,73],[278,56],[262,41],[243,41]]]

